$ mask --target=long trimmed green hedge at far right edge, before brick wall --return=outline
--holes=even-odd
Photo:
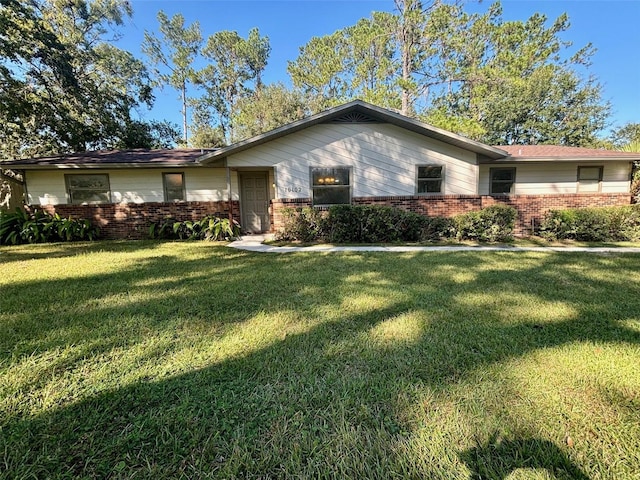
[[[640,205],[550,210],[538,234],[548,240],[640,240]]]

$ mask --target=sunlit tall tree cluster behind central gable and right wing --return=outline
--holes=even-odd
[[[571,52],[569,20],[504,21],[499,2],[466,13],[439,0],[396,0],[289,63],[294,85],[328,106],[363,98],[489,144],[594,146],[607,125],[591,45]]]

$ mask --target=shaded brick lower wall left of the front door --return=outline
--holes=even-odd
[[[240,221],[240,204],[233,203],[233,218]],[[167,217],[179,221],[200,220],[206,215],[228,218],[228,202],[175,203],[108,203],[99,205],[41,205],[51,214],[61,217],[87,218],[100,228],[101,238],[148,238],[149,225]]]

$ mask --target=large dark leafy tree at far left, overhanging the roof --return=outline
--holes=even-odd
[[[129,15],[125,0],[0,0],[1,157],[137,147],[154,129],[163,135],[131,115],[153,95],[143,62],[112,43]]]

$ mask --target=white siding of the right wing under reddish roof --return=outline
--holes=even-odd
[[[516,169],[514,194],[540,195],[577,193],[578,167],[603,166],[601,193],[628,193],[630,188],[629,162],[538,162],[480,165],[480,195],[489,195],[489,169]]]

